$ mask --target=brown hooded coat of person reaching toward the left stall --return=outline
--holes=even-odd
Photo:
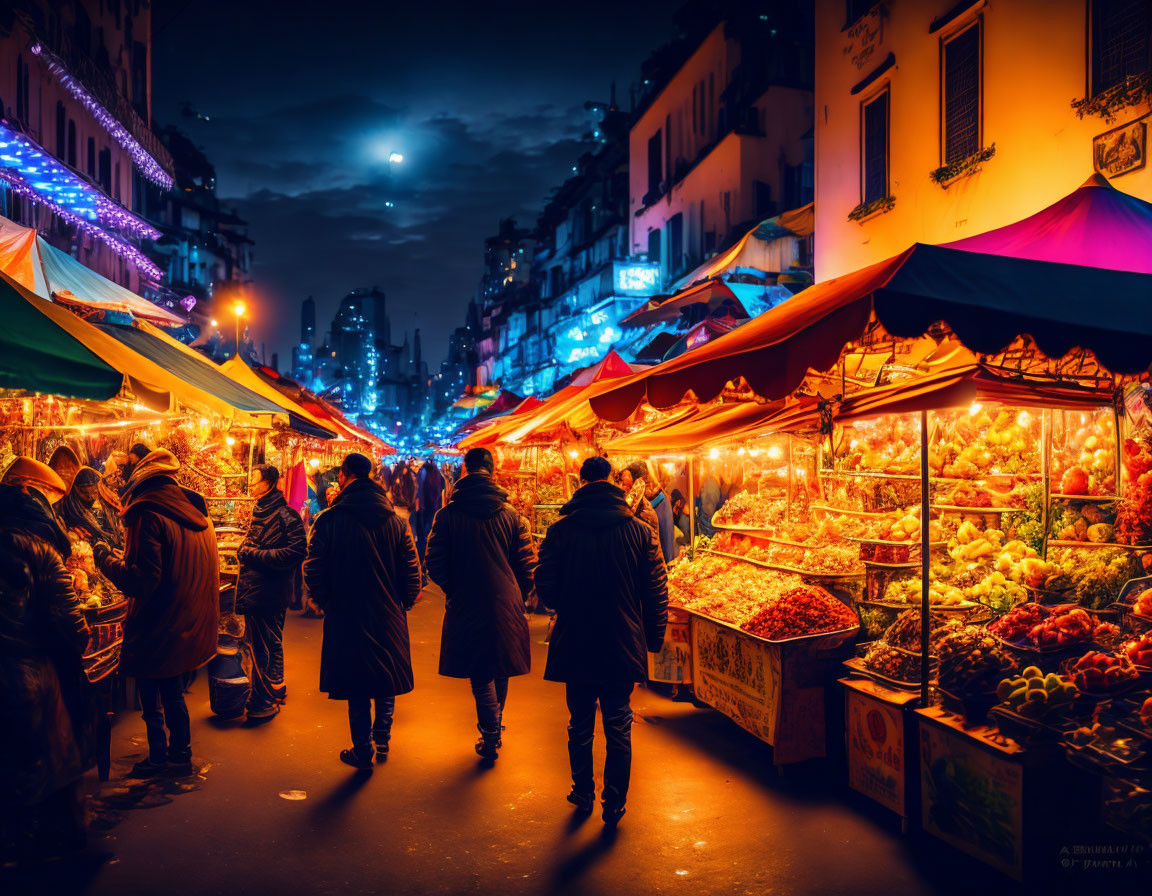
[[[170,476],[134,474],[132,480],[123,514],[123,554],[111,553],[104,544],[93,546],[93,554],[100,571],[131,601],[121,670],[137,678],[170,678],[215,655],[215,531],[204,499]]]

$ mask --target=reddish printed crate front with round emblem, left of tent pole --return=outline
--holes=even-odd
[[[848,783],[903,815],[904,721],[894,706],[848,689]]]

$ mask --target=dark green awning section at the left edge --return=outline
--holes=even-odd
[[[105,401],[123,380],[0,274],[0,388]]]

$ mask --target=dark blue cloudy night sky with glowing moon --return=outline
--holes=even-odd
[[[250,221],[257,344],[287,369],[306,295],[323,334],[349,289],[377,284],[394,340],[419,327],[437,370],[484,237],[535,223],[584,149],[584,101],[615,79],[627,108],[674,9],[157,0],[153,115],[205,150]]]

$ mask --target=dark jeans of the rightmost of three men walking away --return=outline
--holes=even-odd
[[[631,682],[566,685],[571,721],[568,723],[568,760],[573,788],[578,794],[594,794],[592,777],[592,737],[596,731],[596,705],[600,704],[607,754],[604,760],[602,799],[608,806],[623,806],[632,767]]]

